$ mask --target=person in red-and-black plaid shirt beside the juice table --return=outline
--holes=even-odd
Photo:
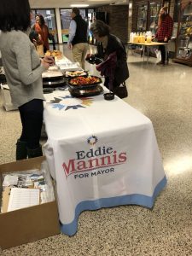
[[[167,6],[160,9],[160,15],[158,20],[158,30],[155,34],[155,38],[159,43],[168,43],[172,37],[173,20],[168,14]],[[158,64],[166,65],[168,63],[168,53],[166,56],[166,48],[164,45],[160,45],[161,61]],[[167,63],[166,63],[167,61]]]

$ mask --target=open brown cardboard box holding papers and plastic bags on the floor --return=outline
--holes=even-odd
[[[43,160],[45,160],[44,157],[38,157],[1,165],[0,183],[2,184],[3,172],[39,168]],[[2,199],[2,193],[0,194]],[[57,234],[60,234],[60,225],[56,201],[0,213],[0,247],[2,249]]]

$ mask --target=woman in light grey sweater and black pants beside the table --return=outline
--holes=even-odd
[[[12,102],[19,108],[21,136],[16,143],[16,160],[42,155],[39,144],[43,124],[42,73],[54,63],[40,60],[28,38],[31,26],[28,0],[0,1],[0,50]]]

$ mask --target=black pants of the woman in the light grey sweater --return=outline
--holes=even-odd
[[[22,123],[21,142],[26,142],[27,148],[39,147],[43,125],[44,102],[34,99],[19,107]]]

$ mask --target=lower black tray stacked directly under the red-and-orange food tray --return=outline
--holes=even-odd
[[[69,88],[70,94],[74,97],[96,96],[96,95],[100,95],[102,91],[103,91],[103,88],[101,85],[96,85],[96,88],[84,89],[84,90]]]

